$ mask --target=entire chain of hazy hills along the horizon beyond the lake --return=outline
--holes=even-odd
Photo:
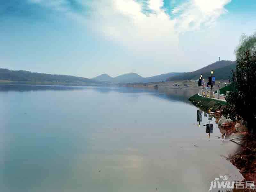
[[[198,79],[202,74],[203,79],[211,76],[210,71],[214,70],[214,76],[217,80],[226,80],[231,76],[231,70],[236,68],[236,61],[221,60],[212,63],[206,67],[193,72],[183,73],[165,73],[161,75],[142,77],[137,73],[127,73],[116,77],[111,77],[108,74],[102,74],[92,79],[68,75],[52,75],[45,73],[34,73],[23,70],[9,70],[0,68],[0,80],[11,82],[23,82],[28,84],[67,84],[67,85],[86,85],[100,84],[100,82],[111,83],[149,83],[161,81],[180,81],[189,79]]]

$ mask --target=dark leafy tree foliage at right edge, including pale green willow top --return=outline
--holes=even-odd
[[[232,91],[226,97],[223,115],[233,121],[244,120],[249,131],[256,131],[256,34],[242,37],[232,75]]]

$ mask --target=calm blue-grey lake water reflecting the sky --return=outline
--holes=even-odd
[[[241,179],[193,90],[0,86],[0,191],[208,191]],[[196,146],[194,146],[196,145]]]

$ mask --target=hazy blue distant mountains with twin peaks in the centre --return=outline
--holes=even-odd
[[[148,82],[165,81],[168,77],[172,77],[180,74],[182,73],[174,72],[174,73],[165,73],[162,75],[156,75],[152,77],[142,77],[137,73],[127,73],[127,74],[116,76],[116,77],[111,77],[107,74],[102,74],[92,79],[101,81],[101,82],[113,82],[113,83],[148,83]]]

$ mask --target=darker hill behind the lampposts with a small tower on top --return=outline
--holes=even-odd
[[[211,76],[211,70],[214,71],[214,76],[216,79],[224,80],[228,79],[228,77],[231,76],[231,69],[235,68],[236,61],[221,60],[193,72],[186,72],[177,76],[169,77],[167,81],[199,79],[201,74],[203,75],[203,79],[207,79],[208,76]]]

